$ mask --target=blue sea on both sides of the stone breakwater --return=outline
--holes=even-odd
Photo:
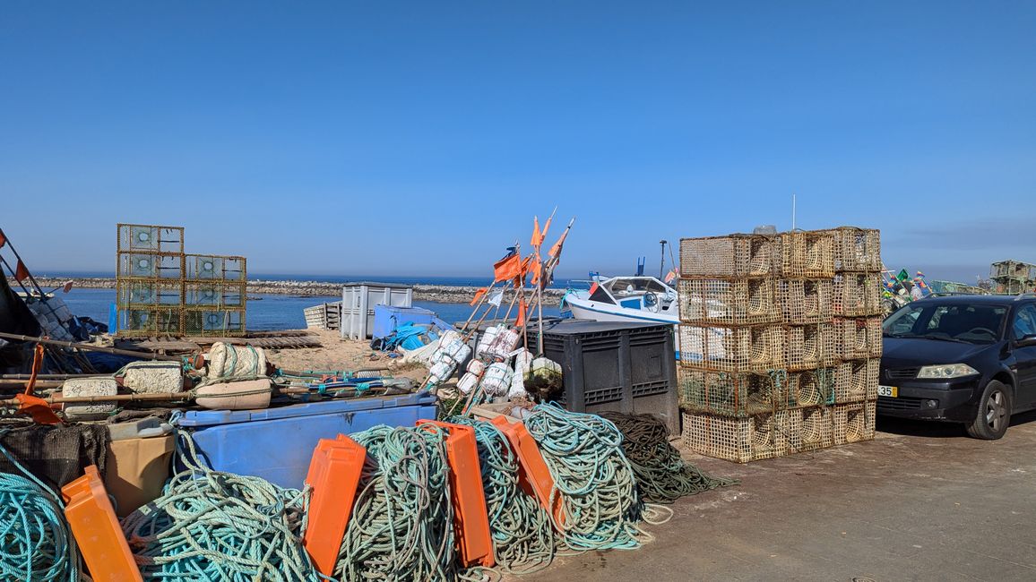
[[[38,271],[39,277],[75,278],[114,278],[111,272],[47,272]],[[327,283],[348,283],[356,281],[374,281],[379,283],[396,283],[400,285],[445,285],[445,286],[485,286],[489,278],[451,278],[451,277],[333,277],[310,274],[250,274],[250,280],[262,281],[319,281]],[[564,288],[569,283],[555,281],[553,287]],[[77,289],[67,294],[57,291],[68,309],[77,316],[84,316],[98,321],[108,322],[108,314],[115,302],[114,289]],[[250,330],[265,331],[278,329],[304,329],[306,317],[303,310],[320,303],[340,300],[341,296],[313,297],[278,294],[250,294],[246,312],[246,324]],[[471,315],[472,308],[467,303],[439,303],[434,301],[414,301],[414,307],[435,312],[439,319],[454,323],[464,321]],[[507,305],[505,305],[507,309]],[[492,314],[491,314],[492,315]],[[544,316],[557,316],[556,304],[544,304]]]

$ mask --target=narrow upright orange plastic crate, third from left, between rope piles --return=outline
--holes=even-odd
[[[450,494],[454,506],[454,530],[464,565],[491,568],[493,539],[489,531],[486,493],[482,489],[482,467],[474,429],[464,425],[418,420],[416,426],[434,425],[447,430],[447,456],[450,461]]]

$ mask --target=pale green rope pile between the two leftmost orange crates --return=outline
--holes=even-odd
[[[177,457],[188,470],[122,521],[145,579],[318,580],[299,539],[305,492],[209,470],[183,432]]]

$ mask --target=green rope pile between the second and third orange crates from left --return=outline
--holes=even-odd
[[[383,425],[350,435],[367,448],[338,580],[453,580],[454,515],[442,429]]]

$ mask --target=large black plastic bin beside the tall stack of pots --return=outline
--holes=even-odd
[[[538,337],[530,326],[530,348]],[[543,351],[562,365],[565,408],[648,412],[680,434],[671,325],[562,320],[544,327]]]

